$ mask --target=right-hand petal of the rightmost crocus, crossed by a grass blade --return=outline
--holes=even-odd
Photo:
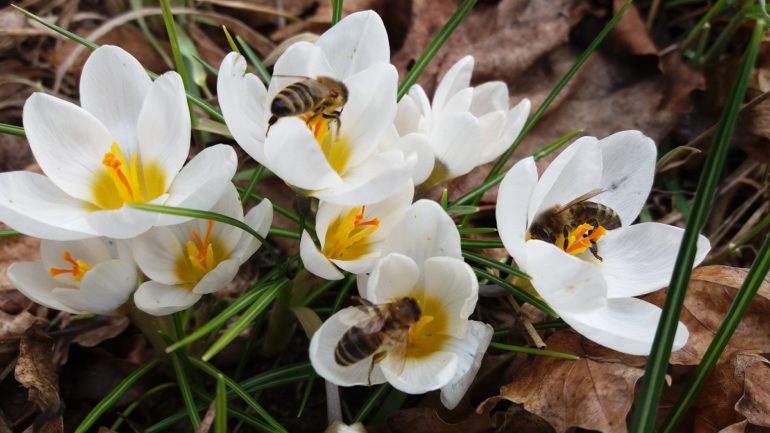
[[[644,295],[668,285],[684,230],[660,223],[641,223],[611,230],[599,240],[604,259],[596,266],[607,280],[610,298]],[[697,266],[711,246],[698,237]]]

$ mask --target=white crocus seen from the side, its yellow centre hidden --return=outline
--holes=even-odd
[[[426,186],[432,187],[495,160],[524,127],[529,100],[509,108],[508,86],[502,81],[471,87],[473,62],[472,56],[463,57],[447,71],[433,103],[419,85],[412,86],[398,103],[399,136],[426,136],[435,158],[430,178],[417,178],[416,184],[426,180]]]

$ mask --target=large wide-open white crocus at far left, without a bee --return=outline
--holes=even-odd
[[[235,152],[224,145],[182,168],[190,118],[176,72],[151,81],[130,54],[103,46],[83,67],[80,100],[35,93],[24,104],[24,130],[46,176],[0,174],[0,220],[22,233],[131,238],[180,218],[127,204],[209,209],[235,173]]]

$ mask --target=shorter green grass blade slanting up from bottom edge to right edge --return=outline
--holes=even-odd
[[[700,390],[703,388],[703,384],[714,370],[720,355],[722,355],[725,347],[727,347],[727,343],[741,323],[743,315],[746,314],[746,310],[751,305],[751,300],[757,294],[769,270],[770,236],[765,238],[765,242],[762,244],[754,264],[751,266],[748,275],[746,275],[740,290],[735,295],[735,299],[730,305],[730,310],[725,315],[725,320],[719,326],[716,334],[714,334],[714,339],[711,340],[711,344],[706,349],[703,359],[698,364],[698,368],[695,369],[690,383],[684,387],[684,393],[679,397],[679,401],[668,413],[663,426],[658,430],[660,433],[673,433],[682,421],[687,409],[695,402]]]

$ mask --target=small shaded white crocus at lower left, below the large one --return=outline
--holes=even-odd
[[[130,252],[117,241],[40,242],[40,262],[17,262],[8,279],[24,296],[68,313],[113,314],[138,283]]]

